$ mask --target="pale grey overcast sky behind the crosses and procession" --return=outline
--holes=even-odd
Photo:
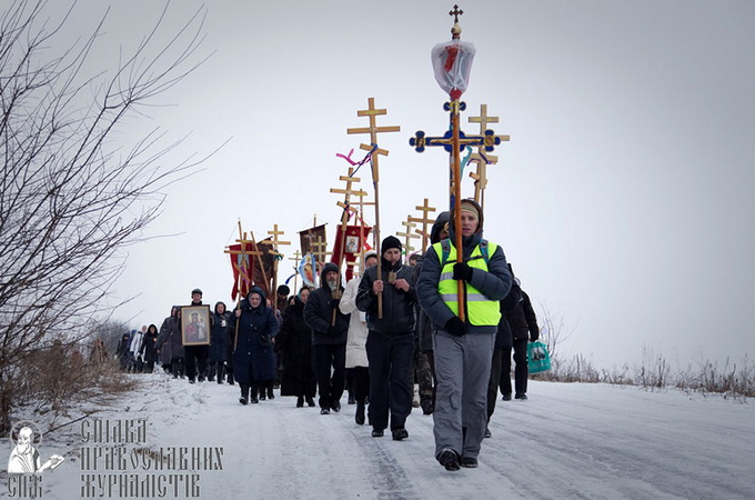
[[[63,2],[48,11],[59,16]],[[61,37],[89,33],[104,14],[93,57],[111,70],[157,20],[161,2],[79,1]],[[202,6],[170,4],[163,33]],[[356,111],[375,98],[381,221],[385,237],[429,198],[444,208],[447,154],[416,153],[416,130],[442,134],[447,96],[430,50],[450,39],[453,2],[210,1],[212,53],[130,128],[190,133],[175,156],[207,154],[202,170],[165,190],[155,238],[129,249],[117,317],[160,324],[191,289],[230,303],[223,253],[236,222],[283,239],[329,222],[341,197],[335,157],[366,136]],[[489,169],[485,237],[502,244],[536,310],[563,320],[563,353],[597,366],[635,362],[643,348],[684,366],[755,353],[755,3],[743,1],[483,1],[462,3],[462,39],[477,49],[462,128],[487,104],[511,136]],[[179,154],[180,153],[180,154]],[[372,193],[369,172],[363,189]],[[463,194],[473,194],[466,180]],[[368,213],[369,220],[374,216]],[[283,247],[291,257],[298,248]],[[279,279],[291,272],[284,261]],[[542,318],[541,318],[542,319]]]

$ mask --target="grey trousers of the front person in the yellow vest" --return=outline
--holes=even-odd
[[[487,382],[495,333],[454,337],[437,330],[433,346],[437,378],[435,457],[451,448],[462,457],[477,458],[487,426]]]

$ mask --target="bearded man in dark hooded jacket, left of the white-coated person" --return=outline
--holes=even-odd
[[[341,271],[328,262],[320,273],[320,288],[312,291],[304,306],[304,322],[312,329],[314,371],[320,392],[320,413],[341,411],[345,384],[346,332],[350,314],[339,309],[343,287]]]

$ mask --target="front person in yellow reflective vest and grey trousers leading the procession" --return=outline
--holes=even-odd
[[[460,204],[461,227],[454,227],[452,211],[449,238],[427,250],[416,284],[420,306],[435,327],[433,433],[435,458],[446,470],[477,467],[500,301],[512,284],[503,249],[482,238],[482,208],[473,200]],[[461,249],[455,248],[456,231],[462,236]],[[457,251],[461,262],[456,262]]]

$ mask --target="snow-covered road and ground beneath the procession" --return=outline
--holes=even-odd
[[[410,438],[396,442],[390,434],[372,438],[368,426],[354,423],[354,406],[346,404],[345,396],[341,413],[321,416],[318,408],[295,408],[294,398],[243,407],[238,386],[191,386],[162,373],[133,378],[142,382],[140,387],[101,404],[84,420],[84,434],[93,437],[89,431],[94,417],[109,424],[147,419],[147,442],[82,442],[83,421],[46,434],[39,446],[42,460],[52,453],[67,460],[42,474],[41,490],[36,490],[41,498],[124,497],[118,486],[110,490],[98,486],[115,481],[121,472],[103,470],[104,458],[92,470],[90,456],[82,470],[82,447],[90,447],[90,453],[92,448],[123,449],[124,473],[162,476],[163,481],[181,474],[177,480],[189,477],[189,482],[198,474],[197,497],[191,491],[187,496],[184,489],[175,494],[170,487],[164,498],[755,498],[752,401],[531,381],[528,401],[499,401],[480,468],[447,472],[433,458],[432,417],[420,410],[406,422]],[[140,467],[145,461],[134,468],[130,460],[142,457],[137,450],[145,447],[154,452],[200,447],[214,454],[202,462],[208,466],[203,470],[155,470],[152,460],[144,471]],[[8,457],[10,444],[3,449]],[[222,469],[204,470],[213,466]],[[82,476],[93,479],[89,488]],[[18,498],[19,477],[4,470],[0,477],[2,497]]]

